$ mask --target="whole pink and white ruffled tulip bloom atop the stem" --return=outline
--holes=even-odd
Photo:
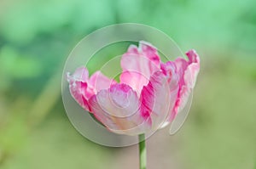
[[[80,67],[73,75],[67,73],[70,93],[111,132],[137,135],[156,130],[183,110],[195,87],[200,59],[195,50],[186,55],[189,60],[162,63],[154,46],[140,42],[123,54],[119,83],[100,71],[89,77]]]

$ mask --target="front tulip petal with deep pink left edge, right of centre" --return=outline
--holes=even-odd
[[[150,112],[153,122],[152,126],[157,129],[166,121],[170,111],[173,109],[177,98],[177,90],[170,90],[170,84],[162,71],[157,71],[150,77],[148,85],[143,87],[141,94],[142,104]],[[143,110],[143,115],[145,115]]]

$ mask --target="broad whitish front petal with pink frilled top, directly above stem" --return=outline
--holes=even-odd
[[[114,84],[101,90],[90,98],[89,104],[96,119],[112,132],[136,135],[148,127],[140,114],[137,93],[128,85]]]

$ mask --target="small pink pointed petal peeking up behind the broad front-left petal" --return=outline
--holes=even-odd
[[[109,79],[104,76],[101,71],[96,71],[92,76],[90,76],[89,87],[94,93],[99,92],[102,89],[108,89],[114,82],[114,80]]]

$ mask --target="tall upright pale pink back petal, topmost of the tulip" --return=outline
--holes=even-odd
[[[148,84],[149,77],[160,70],[160,56],[151,44],[140,42],[139,48],[131,45],[123,54],[121,67],[120,82],[128,84],[139,94]]]

